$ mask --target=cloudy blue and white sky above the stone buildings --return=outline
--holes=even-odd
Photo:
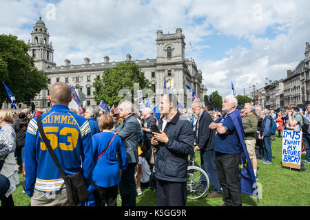
[[[156,31],[185,34],[185,57],[203,72],[208,94],[237,94],[287,76],[310,41],[309,0],[1,0],[0,34],[26,43],[41,15],[54,62],[73,65],[156,58]],[[192,47],[189,45],[192,44]]]

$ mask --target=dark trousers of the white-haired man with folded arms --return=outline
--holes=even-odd
[[[241,190],[239,181],[238,164],[239,154],[226,154],[216,151],[216,170],[218,180],[223,189],[223,199],[226,206],[241,206]]]

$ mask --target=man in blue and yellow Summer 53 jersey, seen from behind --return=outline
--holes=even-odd
[[[82,169],[89,186],[94,159],[90,124],[69,110],[72,96],[67,84],[54,83],[48,100],[52,109],[42,115],[45,135],[65,174]],[[25,139],[25,192],[31,206],[69,205],[65,182],[39,134],[37,118],[29,122]]]

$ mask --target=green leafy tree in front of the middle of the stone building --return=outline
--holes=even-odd
[[[105,69],[102,78],[95,79],[92,85],[94,100],[96,102],[104,100],[109,106],[116,105],[125,97],[125,95],[119,97],[118,91],[129,89],[131,94],[134,94],[134,83],[138,83],[140,89],[150,89],[149,80],[135,63],[120,63],[116,67]]]

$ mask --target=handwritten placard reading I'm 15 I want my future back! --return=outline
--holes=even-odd
[[[300,169],[302,132],[283,130],[282,166]]]

